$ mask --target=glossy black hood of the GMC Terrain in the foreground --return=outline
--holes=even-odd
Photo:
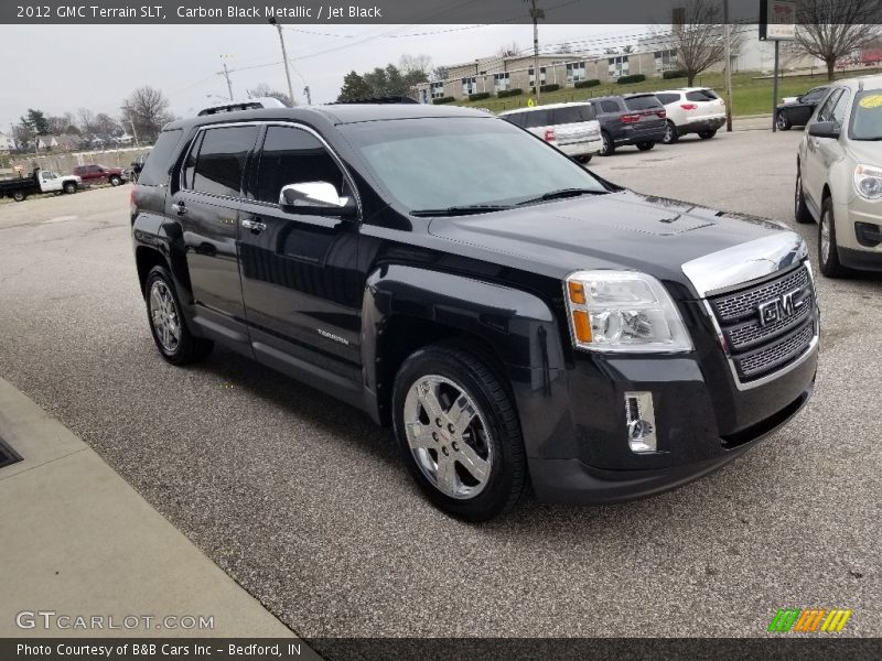
[[[637,270],[681,285],[671,288],[678,297],[697,297],[686,262],[784,230],[771,220],[631,191],[429,225],[432,236],[505,256],[514,268],[561,279],[582,269]]]

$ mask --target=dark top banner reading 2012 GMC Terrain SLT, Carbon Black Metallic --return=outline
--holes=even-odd
[[[724,0],[536,0],[548,24],[722,23]],[[760,0],[728,0],[730,23],[757,24]],[[4,0],[3,24],[508,24],[533,22],[524,0]],[[693,19],[695,17],[692,17]],[[882,23],[882,0],[797,0],[797,22]]]

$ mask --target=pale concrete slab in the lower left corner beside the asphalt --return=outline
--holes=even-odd
[[[0,469],[0,638],[293,637],[92,448],[3,379],[0,437],[23,457]],[[24,616],[31,628],[17,622],[20,613],[41,610],[54,611],[54,626],[40,616]],[[75,627],[77,616],[85,627]],[[123,626],[132,616],[138,626]],[[212,628],[184,628],[185,616],[211,617]]]

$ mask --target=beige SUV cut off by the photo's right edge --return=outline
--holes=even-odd
[[[818,268],[882,271],[882,76],[838,80],[799,143],[796,220],[818,221]]]

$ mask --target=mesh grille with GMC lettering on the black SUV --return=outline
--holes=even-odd
[[[815,291],[805,264],[708,302],[742,383],[797,360],[817,334]],[[762,318],[762,308],[770,306]]]

